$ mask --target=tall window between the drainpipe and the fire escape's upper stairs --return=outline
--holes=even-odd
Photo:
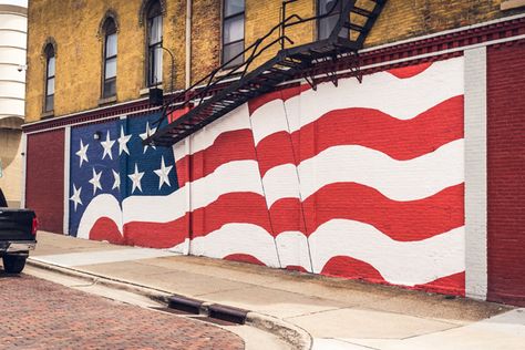
[[[235,66],[243,64],[239,55],[245,50],[245,1],[225,0],[223,14],[223,64]]]

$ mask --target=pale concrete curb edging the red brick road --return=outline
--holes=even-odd
[[[63,267],[63,266],[53,265],[49,262],[42,262],[42,261],[33,260],[31,257],[28,258],[27,264],[35,268],[51,270],[51,271],[59,272],[65,276],[71,276],[71,277],[89,280],[94,284],[100,284],[102,286],[138,294],[141,296],[148,297],[150,299],[161,301],[166,305],[169,303],[169,299],[171,297],[173,297],[173,294],[166,290],[150,288],[146,286],[128,282],[128,281],[121,280],[117,278],[111,278],[111,277],[101,276],[101,275],[96,275],[92,272],[85,272],[85,271],[78,270],[71,267]],[[199,311],[203,315],[209,315],[210,308],[213,309],[214,307],[216,308],[217,306],[219,306],[216,302],[197,300],[197,299],[193,299],[191,297],[183,296],[183,295],[178,295],[178,296],[200,302]],[[220,305],[220,307],[236,309],[236,308],[224,306],[224,305]],[[295,325],[291,325],[289,322],[286,322],[281,319],[278,319],[268,315],[259,313],[259,312],[248,311],[246,315],[246,325],[279,337],[281,340],[290,344],[294,349],[310,350],[312,347],[312,338],[310,333],[308,333],[305,329],[297,327]]]

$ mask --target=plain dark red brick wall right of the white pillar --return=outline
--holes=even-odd
[[[491,47],[488,300],[525,306],[525,42]]]

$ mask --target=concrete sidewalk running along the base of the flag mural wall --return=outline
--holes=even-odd
[[[497,303],[42,231],[38,239],[30,264],[250,310],[266,327],[296,338],[291,342],[308,346],[311,337],[313,349],[523,349],[525,343],[525,311]]]

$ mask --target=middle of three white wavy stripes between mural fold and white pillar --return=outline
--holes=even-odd
[[[463,140],[453,141],[410,161],[362,146],[330,147],[299,165],[302,199],[342,182],[373,187],[392,200],[426,198],[464,182],[463,145]],[[278,181],[265,176],[265,182]]]

